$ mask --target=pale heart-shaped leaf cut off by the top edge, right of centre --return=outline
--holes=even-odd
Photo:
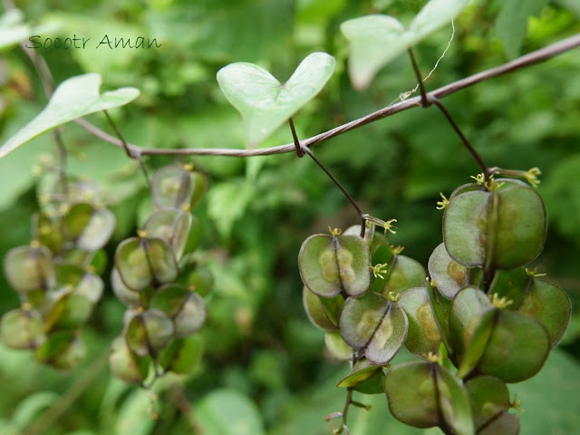
[[[371,84],[375,74],[399,54],[448,24],[469,0],[431,0],[415,16],[409,28],[389,15],[367,15],[341,24],[351,43],[348,73],[357,90]]]

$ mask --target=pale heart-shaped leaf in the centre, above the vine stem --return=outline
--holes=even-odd
[[[311,53],[281,84],[253,63],[231,63],[218,71],[219,87],[240,112],[249,147],[256,147],[324,88],[336,61],[328,53]]]

